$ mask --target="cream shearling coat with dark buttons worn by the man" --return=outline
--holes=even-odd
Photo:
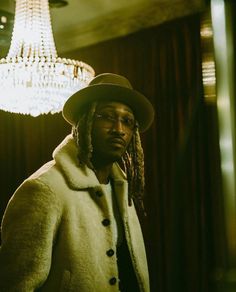
[[[116,255],[106,254],[116,249],[113,217],[95,173],[79,167],[77,151],[67,136],[11,198],[2,222],[0,292],[119,290]],[[140,291],[148,292],[142,232],[116,164],[112,177]]]

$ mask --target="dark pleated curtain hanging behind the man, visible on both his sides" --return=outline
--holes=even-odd
[[[89,63],[97,74],[127,76],[155,107],[155,122],[142,136],[147,217],[140,214],[151,291],[215,291],[219,149],[216,108],[202,93],[200,15],[64,56]],[[0,131],[2,214],[14,189],[50,159],[70,127],[60,114],[0,112]]]

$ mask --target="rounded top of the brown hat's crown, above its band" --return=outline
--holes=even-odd
[[[121,87],[126,87],[129,89],[133,89],[129,80],[124,76],[113,74],[113,73],[104,73],[97,75],[93,78],[93,80],[89,83],[89,86],[99,85],[99,84],[112,84]]]

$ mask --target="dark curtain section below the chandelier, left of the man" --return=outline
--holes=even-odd
[[[0,111],[1,217],[22,181],[43,163],[70,131],[61,114],[37,118]]]

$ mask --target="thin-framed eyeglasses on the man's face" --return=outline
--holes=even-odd
[[[129,116],[119,117],[111,113],[95,113],[95,118],[103,124],[103,127],[112,127],[115,123],[121,122],[125,129],[133,131],[136,126],[135,119]]]

